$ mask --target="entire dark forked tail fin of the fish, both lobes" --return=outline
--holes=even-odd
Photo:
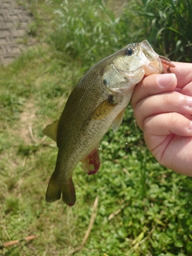
[[[70,178],[69,182],[58,182],[57,178],[54,178],[52,174],[50,178],[50,183],[46,190],[46,202],[54,202],[61,198],[62,201],[66,203],[67,206],[74,206],[76,201],[74,182]]]

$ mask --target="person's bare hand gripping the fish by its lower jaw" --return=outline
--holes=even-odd
[[[131,105],[146,146],[162,165],[192,177],[192,63],[173,62],[134,90]]]

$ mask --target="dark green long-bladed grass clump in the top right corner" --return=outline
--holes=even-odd
[[[174,61],[191,61],[191,0],[134,1],[131,12],[124,10],[118,27],[125,29],[135,18],[131,26],[139,41],[148,39],[159,54]]]

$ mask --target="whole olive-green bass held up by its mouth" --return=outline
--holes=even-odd
[[[46,126],[43,134],[58,146],[54,173],[46,190],[46,202],[61,198],[67,206],[76,201],[72,174],[78,162],[87,174],[100,166],[99,142],[112,126],[118,130],[134,86],[150,74],[161,74],[160,57],[146,40],[130,43],[93,66],[71,92],[62,115]]]

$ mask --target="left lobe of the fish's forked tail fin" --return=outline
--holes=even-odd
[[[46,202],[54,202],[61,198],[61,185],[57,178],[52,174],[46,190]]]

